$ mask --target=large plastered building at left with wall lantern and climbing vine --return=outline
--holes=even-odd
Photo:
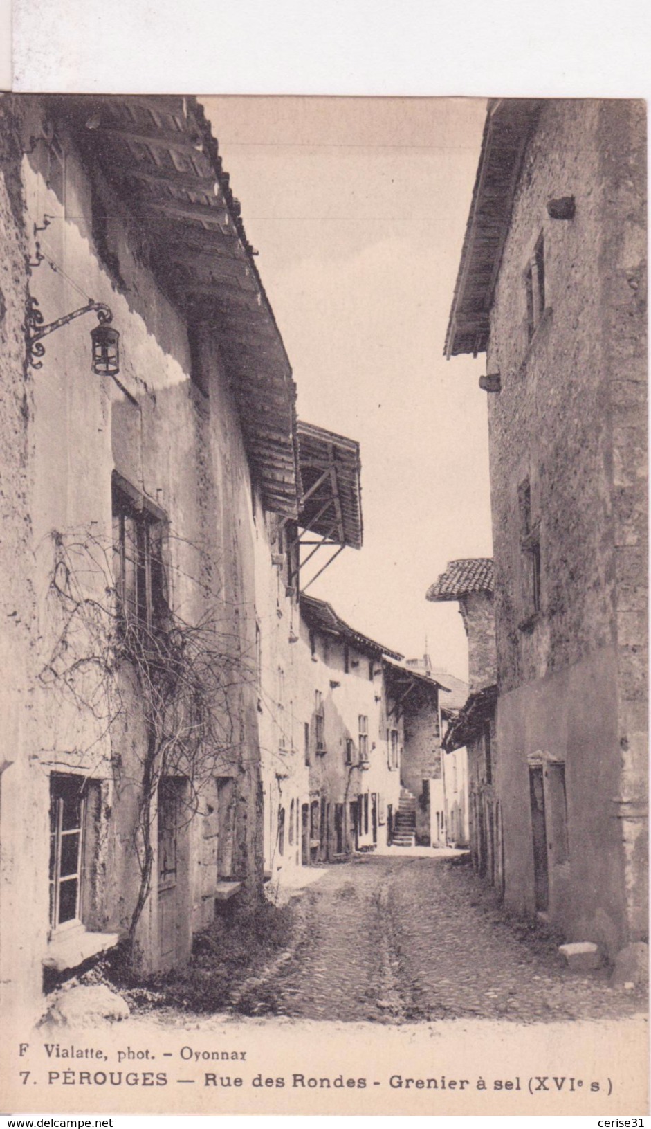
[[[183,961],[223,899],[259,895],[256,557],[274,569],[300,481],[201,106],[0,114],[0,960],[27,1006],[121,938]]]

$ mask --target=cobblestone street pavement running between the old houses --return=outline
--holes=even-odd
[[[509,918],[457,860],[359,856],[332,866],[296,905],[280,960],[236,1009],[313,1019],[519,1023],[609,1018],[644,1009],[606,972],[570,972],[556,944]]]

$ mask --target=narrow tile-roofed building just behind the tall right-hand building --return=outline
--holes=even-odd
[[[428,589],[428,599],[458,601],[468,638],[469,694],[447,718],[443,749],[454,756],[466,749],[468,837],[473,865],[492,884],[502,884],[501,813],[495,794],[496,656],[493,561],[450,561]]]

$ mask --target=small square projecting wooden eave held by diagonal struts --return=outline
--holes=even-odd
[[[299,525],[331,543],[361,549],[360,446],[311,423],[298,423],[302,483]]]

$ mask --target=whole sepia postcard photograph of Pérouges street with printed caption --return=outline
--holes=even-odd
[[[646,1114],[645,103],[7,93],[0,247],[1,1112]]]

